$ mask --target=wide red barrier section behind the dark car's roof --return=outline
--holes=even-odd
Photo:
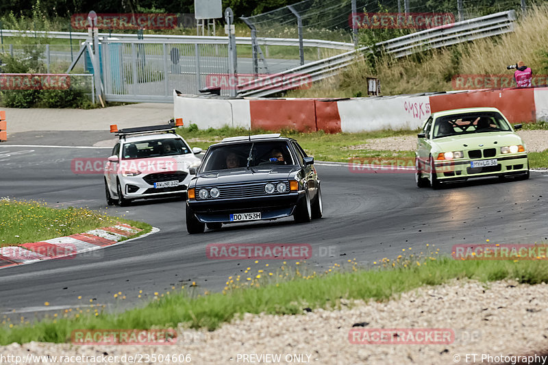
[[[251,129],[316,131],[314,99],[250,100]]]

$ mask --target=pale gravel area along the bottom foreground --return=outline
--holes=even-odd
[[[127,359],[137,353],[190,354],[190,364],[219,365],[479,364],[482,356],[491,356],[483,358],[484,364],[487,360],[495,364],[505,362],[501,355],[545,353],[543,350],[548,345],[546,303],[546,284],[530,286],[508,280],[484,284],[454,279],[442,286],[425,286],[403,293],[390,301],[343,301],[340,310],[303,310],[303,314],[295,316],[246,314],[215,331],[179,326],[177,342],[171,345],[77,346],[30,342],[0,347],[0,354],[23,358],[27,354],[117,356],[116,362],[103,364],[129,364],[121,360],[122,356],[126,355]],[[449,331],[451,336],[441,337],[450,343],[401,344],[397,342],[405,337],[392,335],[382,337],[384,342],[391,339],[391,344],[351,343],[353,335],[349,337],[349,331],[368,330],[373,340],[374,333],[379,333],[377,329]],[[419,336],[415,336],[419,340]],[[358,341],[365,338],[363,333],[356,337]],[[434,334],[429,340],[433,339],[436,341]],[[477,354],[475,362],[471,355],[466,361],[466,354],[473,353]],[[506,361],[511,359],[508,357]]]

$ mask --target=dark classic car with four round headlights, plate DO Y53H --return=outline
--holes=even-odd
[[[188,184],[190,234],[223,224],[322,216],[321,184],[296,140],[279,134],[225,138],[210,146]]]

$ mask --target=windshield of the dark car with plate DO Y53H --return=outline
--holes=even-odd
[[[213,147],[200,172],[249,166],[276,166],[296,164],[286,141],[245,142]]]

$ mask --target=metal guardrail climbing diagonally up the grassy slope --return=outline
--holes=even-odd
[[[408,34],[384,42],[375,47],[382,47],[387,53],[395,57],[403,57],[425,49],[445,47],[459,42],[466,42],[478,38],[496,36],[514,31],[516,12],[499,12],[479,18],[454,23],[451,27],[438,27],[421,32]],[[310,80],[318,81],[336,75],[340,68],[351,64],[357,55],[371,52],[371,47],[362,47],[354,51],[335,55],[324,60],[310,62],[306,65],[291,68],[275,75],[260,77],[245,84],[238,85],[240,97],[266,97],[283,90],[290,90],[295,86],[306,84]],[[267,87],[261,87],[268,85]]]

